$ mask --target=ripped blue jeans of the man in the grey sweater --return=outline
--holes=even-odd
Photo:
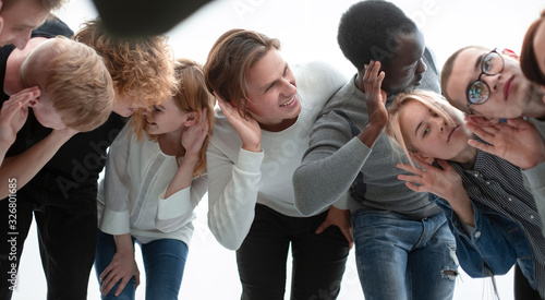
[[[352,214],[355,259],[365,300],[452,299],[456,240],[443,213],[412,220],[385,211]]]

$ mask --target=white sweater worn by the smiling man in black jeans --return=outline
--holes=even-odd
[[[281,132],[262,130],[263,152],[242,149],[237,130],[216,110],[208,164],[208,226],[226,248],[237,250],[250,231],[255,204],[303,217],[294,205],[292,176],[308,148],[314,122],[327,100],[347,81],[330,65],[312,62],[293,70],[302,110]]]

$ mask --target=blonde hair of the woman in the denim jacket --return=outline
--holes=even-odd
[[[411,159],[410,154],[417,152],[417,149],[415,149],[414,146],[408,142],[407,136],[403,136],[403,132],[401,130],[403,124],[401,124],[400,121],[401,112],[405,110],[405,104],[409,101],[417,101],[424,105],[433,112],[437,113],[437,116],[443,118],[449,125],[453,125],[455,120],[445,110],[445,106],[449,104],[441,95],[434,92],[415,89],[409,93],[401,93],[396,97],[388,109],[388,123],[386,124],[385,132],[390,137],[392,147],[398,151],[398,153],[407,156],[411,166],[414,167],[414,163]]]

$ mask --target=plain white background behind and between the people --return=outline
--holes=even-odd
[[[186,19],[167,35],[177,57],[191,58],[204,63],[216,38],[227,29],[234,27],[255,29],[279,38],[282,43],[282,53],[290,64],[324,60],[337,67],[348,77],[354,70],[340,52],[336,33],[340,15],[354,2],[356,1],[217,0]],[[439,67],[450,53],[468,45],[509,48],[520,52],[528,26],[545,9],[545,2],[536,0],[396,0],[392,2],[403,9],[422,28],[426,44],[435,52]],[[57,14],[74,31],[77,31],[84,20],[97,15],[90,0],[71,0]],[[240,299],[241,287],[234,252],[219,245],[208,230],[206,202],[205,196],[197,207],[195,235],[190,247],[180,299]],[[136,253],[136,257],[141,257],[140,253]],[[141,261],[140,265],[143,284],[137,289],[137,299],[144,299],[145,277]],[[496,279],[500,298],[512,299],[512,274]],[[493,299],[492,291],[491,279],[472,279],[462,274],[457,280],[455,299]],[[32,228],[25,243],[19,287],[13,293],[13,299],[45,299],[45,295],[46,284],[38,254],[36,230]],[[99,299],[94,271],[89,279],[88,295],[89,299]],[[353,251],[349,256],[338,299],[363,299]]]

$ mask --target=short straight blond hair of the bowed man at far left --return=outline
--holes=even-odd
[[[104,60],[93,48],[62,36],[34,49],[21,67],[25,87],[44,79],[62,122],[80,132],[106,122],[113,107],[113,84]]]

